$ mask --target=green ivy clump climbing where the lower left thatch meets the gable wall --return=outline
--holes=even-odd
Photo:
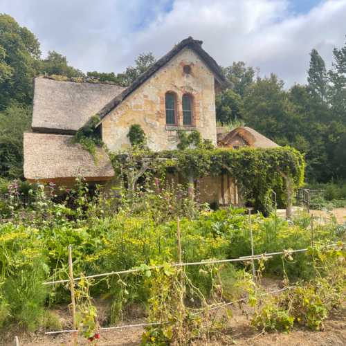
[[[92,116],[90,120],[81,127],[73,137],[73,143],[79,143],[83,149],[87,150],[96,160],[96,147],[102,145],[100,134],[96,130],[96,125],[100,122],[99,116]]]

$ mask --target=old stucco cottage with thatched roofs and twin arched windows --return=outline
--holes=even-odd
[[[227,146],[243,138],[240,145],[253,146],[253,137],[260,134],[248,127],[237,130],[235,136],[235,130],[217,135],[215,94],[229,86],[202,42],[192,37],[174,46],[127,88],[35,78],[32,131],[24,134],[24,176],[32,182],[64,185],[73,183],[76,176],[109,181],[114,171],[104,149],[97,149],[95,163],[89,152],[72,143],[73,134],[95,114],[100,116],[102,141],[112,152],[130,146],[127,134],[134,124],[145,131],[147,145],[154,151],[176,149],[181,129],[197,129],[214,145]],[[246,131],[251,134],[245,135]],[[237,191],[229,179],[206,177],[201,185],[206,201],[237,203]]]

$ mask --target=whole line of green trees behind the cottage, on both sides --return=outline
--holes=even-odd
[[[147,53],[124,73],[84,74],[60,53],[50,51],[42,57],[37,37],[9,15],[0,15],[0,177],[23,175],[23,131],[30,128],[36,75],[95,78],[127,86],[154,62]],[[217,96],[219,122],[241,120],[278,144],[299,149],[306,154],[311,181],[346,176],[346,46],[334,49],[330,71],[318,52],[311,51],[307,84],[289,90],[274,74],[255,78],[255,69],[244,62],[234,62],[224,71],[234,88]]]

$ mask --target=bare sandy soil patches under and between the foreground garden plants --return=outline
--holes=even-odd
[[[262,286],[266,291],[272,291],[280,286],[281,280],[266,278],[262,279]],[[101,320],[105,318],[106,307],[98,304],[98,312]],[[337,313],[329,316],[324,322],[322,331],[311,331],[309,329],[295,328],[291,333],[260,333],[251,327],[250,316],[251,308],[244,305],[244,310],[239,307],[233,307],[233,318],[230,319],[227,331],[222,334],[218,340],[197,341],[193,345],[239,345],[239,346],[345,346],[346,345],[346,304]],[[55,310],[64,319],[64,328],[71,329],[71,318],[67,307],[60,307]],[[130,311],[127,316],[132,317],[123,322],[123,325],[140,324],[145,322],[145,318],[139,318],[140,311]],[[101,321],[100,321],[101,322]],[[116,346],[116,345],[139,345],[143,334],[143,327],[132,327],[127,329],[117,329],[113,331],[102,331],[101,338],[98,340],[99,346]],[[6,335],[1,336],[0,345],[14,345],[13,339],[15,331],[8,331]],[[19,344],[26,346],[68,346],[91,345],[89,341],[74,334],[57,334],[55,336],[46,336],[44,332],[36,334],[19,334]],[[1,339],[6,341],[1,342]]]

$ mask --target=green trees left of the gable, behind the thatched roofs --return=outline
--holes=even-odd
[[[124,73],[84,74],[60,53],[50,51],[42,57],[37,37],[9,15],[0,14],[0,179],[23,177],[23,132],[30,129],[35,76],[96,78],[127,86],[154,61],[147,53]]]

